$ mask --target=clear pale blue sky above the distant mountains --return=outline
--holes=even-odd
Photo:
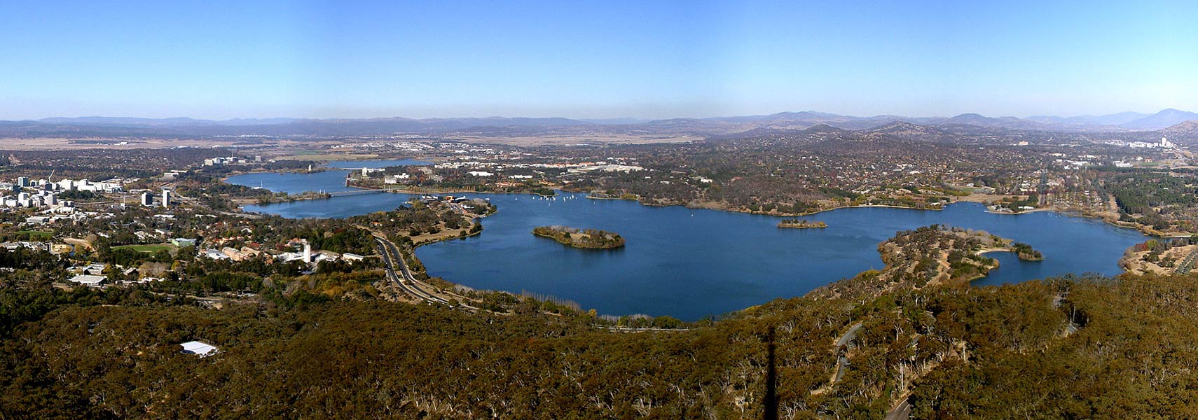
[[[0,120],[1198,110],[1196,4],[7,1]]]

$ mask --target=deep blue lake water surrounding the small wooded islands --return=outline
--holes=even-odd
[[[338,179],[322,174],[280,175],[270,178],[270,185],[259,175],[229,181],[255,187],[261,182],[265,188],[289,191],[344,187],[344,172]],[[479,236],[417,249],[430,275],[474,288],[551,294],[600,314],[670,315],[688,321],[803,296],[861,270],[882,268],[881,242],[897,231],[932,224],[985,230],[1043,252],[1041,262],[1019,261],[1010,252],[988,254],[1002,266],[975,281],[982,286],[1067,273],[1119,274],[1117,261],[1124,250],[1146,241],[1135,230],[1093,219],[1051,212],[993,214],[978,203],[955,203],[939,212],[845,208],[809,217],[827,221],[827,229],[793,230],[778,229],[774,217],[647,207],[635,201],[589,200],[583,194],[562,194],[556,200],[466,196],[490,199],[498,213],[483,220]],[[246,209],[289,218],[345,218],[394,209],[409,197],[370,194]],[[616,250],[568,248],[532,236],[533,227],[544,225],[609,230],[628,243]]]

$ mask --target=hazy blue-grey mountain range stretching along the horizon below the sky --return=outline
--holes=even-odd
[[[778,112],[710,118],[672,120],[571,120],[571,118],[236,118],[196,120],[135,118],[135,117],[54,117],[37,121],[0,121],[4,135],[173,135],[173,136],[353,136],[393,133],[456,133],[461,135],[516,135],[516,134],[694,134],[722,136],[731,134],[767,134],[819,129],[865,130],[881,129],[915,135],[943,135],[954,128],[979,127],[987,129],[1036,130],[1036,132],[1151,132],[1198,121],[1198,114],[1176,109],[1164,109],[1156,114],[1119,112],[1111,115],[1083,115],[1072,117],[1031,116],[988,117],[979,114],[961,114],[952,117],[906,117],[876,115],[869,117],[848,116],[816,111]],[[906,126],[904,126],[906,124]],[[1188,126],[1187,126],[1188,127]],[[1178,134],[1191,129],[1178,129]]]

